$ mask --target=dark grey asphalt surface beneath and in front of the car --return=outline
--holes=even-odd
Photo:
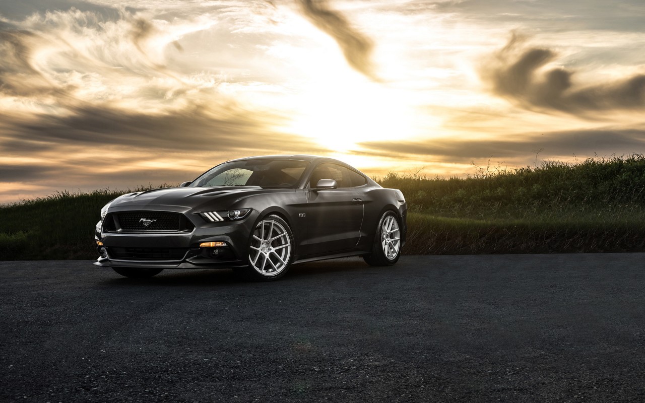
[[[0,262],[8,402],[645,401],[638,253],[407,256],[283,280]]]

